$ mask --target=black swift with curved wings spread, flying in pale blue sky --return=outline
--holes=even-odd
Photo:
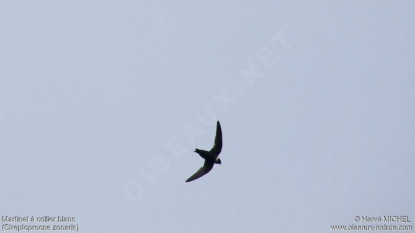
[[[202,177],[204,174],[210,172],[214,164],[221,164],[220,158],[218,155],[222,150],[222,129],[220,128],[220,123],[216,124],[216,137],[215,145],[210,151],[196,149],[195,152],[198,153],[202,158],[204,158],[203,167],[199,168],[193,176],[186,180],[186,182],[195,180]]]

